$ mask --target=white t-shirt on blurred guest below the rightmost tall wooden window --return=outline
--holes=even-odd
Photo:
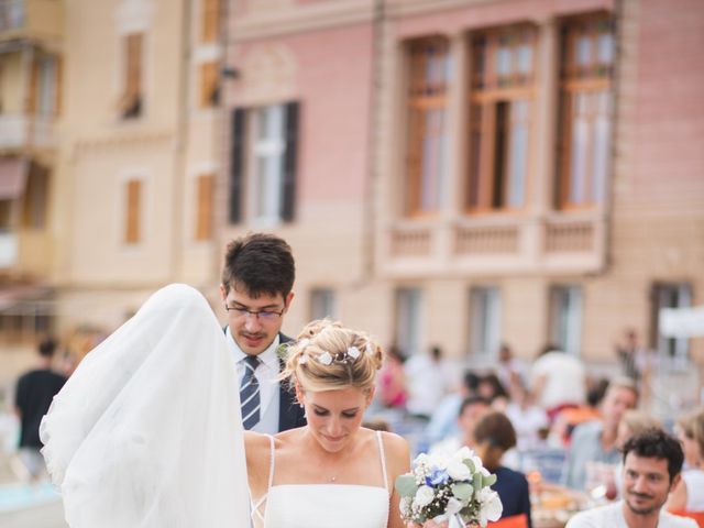
[[[539,405],[550,409],[562,404],[583,404],[586,399],[584,365],[566,352],[548,352],[532,364],[532,382],[546,376]]]

